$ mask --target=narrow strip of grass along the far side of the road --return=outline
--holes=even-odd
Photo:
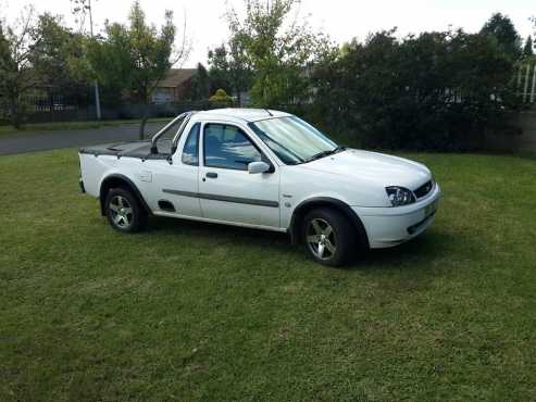
[[[150,118],[151,122],[169,122],[171,117]],[[110,121],[96,121],[96,122],[57,122],[57,123],[34,123],[25,124],[20,129],[13,126],[0,126],[0,138],[7,136],[25,136],[42,133],[55,133],[59,130],[73,130],[73,129],[89,129],[108,126],[121,126],[123,124],[139,124],[140,120],[110,120]]]

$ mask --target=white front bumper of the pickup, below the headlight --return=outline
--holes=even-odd
[[[394,247],[421,235],[432,225],[441,189],[435,185],[432,192],[414,204],[397,208],[352,206],[363,223],[371,249]]]

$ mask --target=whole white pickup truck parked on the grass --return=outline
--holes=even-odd
[[[440,197],[421,163],[340,147],[272,110],[184,113],[151,140],[83,148],[79,160],[82,190],[120,231],[151,214],[276,230],[332,266],[420,235]]]

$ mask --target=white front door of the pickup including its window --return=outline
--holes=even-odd
[[[204,123],[199,199],[203,217],[279,227],[279,169],[238,126]],[[248,164],[264,161],[269,173],[250,174]]]

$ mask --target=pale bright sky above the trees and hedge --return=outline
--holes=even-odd
[[[157,26],[166,9],[174,11],[180,27],[186,15],[191,52],[184,66],[194,67],[198,62],[207,64],[208,50],[226,40],[225,11],[229,5],[239,11],[244,0],[140,0],[140,3],[148,21]],[[0,0],[0,16],[13,21],[26,4],[34,4],[38,12],[62,14],[67,25],[76,26],[70,0]],[[126,22],[130,5],[132,0],[92,0],[95,30],[102,30],[107,18]],[[308,17],[314,29],[323,29],[342,43],[395,26],[400,36],[444,30],[449,26],[477,32],[494,12],[510,16],[523,38],[534,34],[528,20],[536,15],[534,0],[302,0],[299,15]]]

